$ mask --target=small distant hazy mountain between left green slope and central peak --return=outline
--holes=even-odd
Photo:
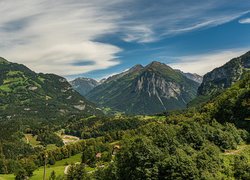
[[[76,78],[75,80],[70,81],[70,84],[82,96],[86,95],[89,91],[99,85],[96,80],[84,77]]]

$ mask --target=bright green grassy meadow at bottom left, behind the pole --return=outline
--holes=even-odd
[[[46,167],[46,179],[49,178],[52,171],[55,171],[56,176],[59,176],[59,175],[63,176],[64,169],[67,166],[67,164],[72,164],[72,163],[74,164],[76,162],[81,162],[81,153],[71,156],[70,158],[57,161],[52,166],[48,165]],[[35,170],[33,173],[34,175],[30,179],[31,180],[43,179],[43,168],[44,167],[40,167],[37,170]],[[15,179],[15,176],[13,174],[0,175],[0,180],[13,180],[13,179]]]

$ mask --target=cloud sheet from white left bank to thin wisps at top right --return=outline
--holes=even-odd
[[[0,1],[0,55],[39,72],[86,73],[120,63],[122,47],[101,42],[104,36],[150,43],[232,21],[249,8],[244,0]]]

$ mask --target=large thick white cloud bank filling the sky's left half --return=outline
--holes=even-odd
[[[59,1],[57,1],[59,2]],[[77,2],[77,1],[74,1]],[[96,42],[117,29],[119,14],[98,5],[49,0],[1,2],[0,54],[38,72],[73,75],[119,64],[119,47]],[[107,6],[114,2],[106,1]],[[91,62],[76,66],[75,63]],[[84,63],[83,63],[84,64]]]

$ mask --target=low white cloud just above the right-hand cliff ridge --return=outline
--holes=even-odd
[[[220,67],[232,58],[238,57],[249,49],[230,49],[222,52],[210,52],[192,56],[177,57],[176,63],[169,65],[174,69],[180,69],[184,72],[197,73],[204,75],[214,68]]]

